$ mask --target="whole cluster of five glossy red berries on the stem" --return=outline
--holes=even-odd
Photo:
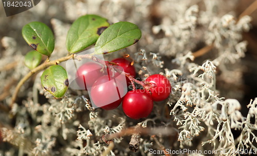
[[[116,58],[111,62],[115,62],[125,73],[135,78],[136,71],[130,61]],[[113,74],[108,68],[104,72],[103,66],[97,62],[81,65],[76,74],[78,85],[85,86],[85,90],[90,88],[90,97],[96,106],[111,110],[122,102],[124,113],[132,119],[148,117],[153,109],[153,101],[162,101],[171,93],[169,80],[160,74],[154,74],[145,80],[148,90],[132,90],[127,93],[125,87],[131,84],[131,80],[126,77],[124,85],[121,79],[124,74]]]

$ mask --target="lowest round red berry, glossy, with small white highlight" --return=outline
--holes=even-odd
[[[124,96],[122,108],[131,119],[146,118],[152,112],[153,100],[144,90],[133,90]]]

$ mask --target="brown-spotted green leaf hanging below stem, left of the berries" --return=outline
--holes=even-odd
[[[41,84],[54,97],[61,98],[67,91],[69,81],[61,65],[52,65],[41,76]]]

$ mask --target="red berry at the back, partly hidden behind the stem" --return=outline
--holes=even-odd
[[[129,73],[132,77],[136,76],[136,70],[133,65],[131,65],[131,62],[126,60],[125,58],[116,58],[113,59],[111,62],[115,62],[117,65],[121,66],[124,69],[125,73]],[[131,84],[130,79],[126,77],[127,85]]]

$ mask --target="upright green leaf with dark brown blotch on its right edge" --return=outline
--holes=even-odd
[[[91,46],[107,27],[109,27],[109,24],[106,18],[97,15],[79,17],[68,31],[67,50],[69,53],[76,53]]]

